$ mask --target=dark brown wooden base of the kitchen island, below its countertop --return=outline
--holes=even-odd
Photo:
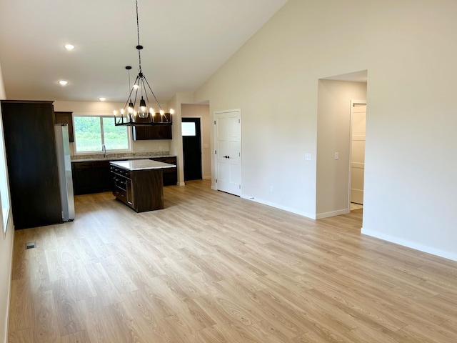
[[[162,169],[129,171],[111,166],[114,196],[135,212],[164,208]]]

